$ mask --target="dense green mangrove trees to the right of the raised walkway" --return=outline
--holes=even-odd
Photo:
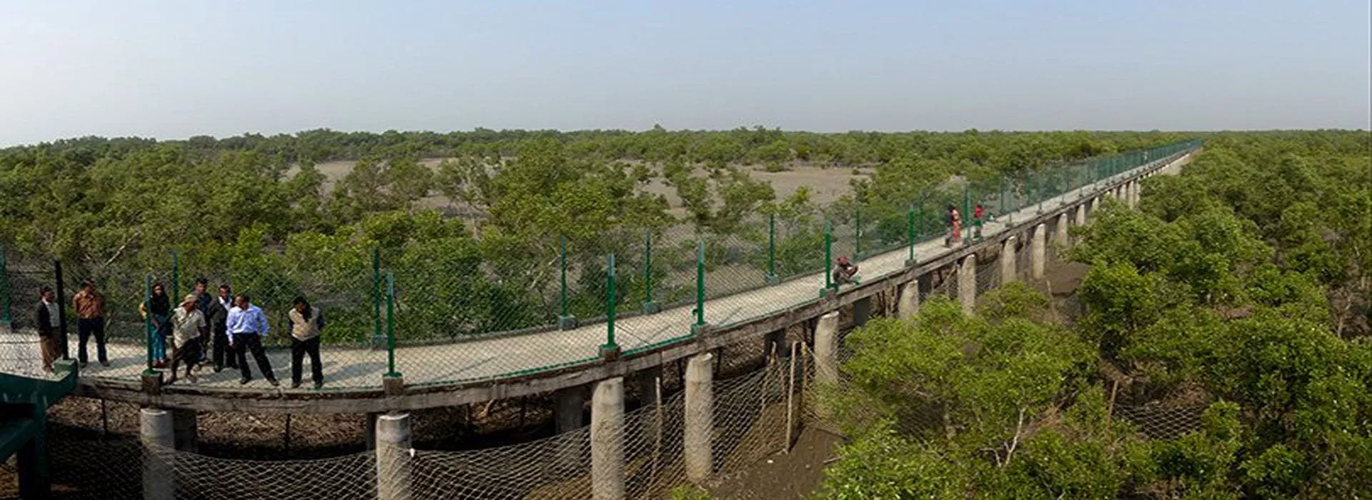
[[[853,332],[848,385],[826,393],[853,445],[825,492],[1367,496],[1368,164],[1362,132],[1218,136],[1181,175],[1148,179],[1140,212],[1107,203],[1074,229],[1069,255],[1092,268],[1070,333],[1022,285],[980,297],[974,318],[936,299]],[[1129,415],[1210,403],[1198,427],[1143,440],[1111,419],[1102,379],[1147,403]]]

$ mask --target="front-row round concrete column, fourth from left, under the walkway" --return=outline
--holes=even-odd
[[[702,485],[715,468],[711,436],[715,433],[715,355],[702,353],[686,362],[686,434],[683,455],[686,479]]]

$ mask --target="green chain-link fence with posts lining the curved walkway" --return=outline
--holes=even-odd
[[[70,305],[84,279],[106,297],[111,366],[92,366],[84,373],[91,377],[136,379],[165,368],[159,358],[170,353],[154,352],[158,329],[139,312],[140,304],[158,284],[177,304],[204,278],[211,296],[228,285],[266,314],[272,327],[263,337],[265,356],[277,379],[291,378],[296,364],[287,349],[295,344],[288,312],[296,296],[327,321],[325,390],[376,388],[384,374],[403,375],[409,385],[499,379],[591,363],[612,352],[635,355],[690,338],[705,325],[724,327],[801,305],[822,289],[841,286],[831,267],[840,258],[860,264],[858,278],[878,279],[908,259],[932,256],[949,236],[949,207],[962,214],[959,237],[975,241],[1011,226],[1014,216],[1033,214],[1034,205],[1059,207],[1073,193],[1195,147],[1179,142],[992,179],[954,178],[895,201],[862,196],[822,210],[782,207],[705,226],[626,223],[582,236],[513,241],[488,233],[358,248],[292,241],[284,249],[187,249],[143,268],[71,263],[62,300]],[[0,315],[12,332],[22,332],[21,312],[36,304],[40,284],[52,281],[48,266],[14,255],[0,264],[0,296],[7,300]],[[1026,267],[1017,266],[1017,273]],[[996,273],[978,268],[978,289],[999,284]],[[75,312],[69,307],[66,315],[69,332],[77,333]],[[69,351],[81,351],[77,336],[67,340]],[[26,334],[11,333],[4,341],[25,345],[5,359],[32,356]],[[93,338],[86,351],[95,351],[89,344]],[[211,342],[207,351],[229,349]],[[246,362],[261,375],[252,356]],[[239,378],[229,370],[198,384],[236,386]]]

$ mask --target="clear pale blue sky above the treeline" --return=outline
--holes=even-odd
[[[338,130],[1369,129],[1368,0],[0,0],[0,145]]]

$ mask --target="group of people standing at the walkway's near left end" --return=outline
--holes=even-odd
[[[195,382],[196,373],[213,363],[215,373],[225,367],[237,368],[241,374],[239,384],[247,384],[252,381],[247,363],[251,352],[262,377],[273,386],[280,385],[272,371],[272,360],[262,348],[262,338],[270,330],[262,308],[254,305],[246,293],[233,295],[229,285],[220,285],[218,296],[210,296],[207,289],[207,279],[196,279],[195,292],[173,307],[166,288],[162,284],[152,285],[151,296],[139,304],[140,316],[152,326],[148,338],[151,367],[169,368],[166,384],[174,384],[182,366],[185,378]],[[52,371],[52,362],[62,352],[58,332],[60,312],[51,286],[44,286],[34,311],[38,349],[43,368]],[[81,290],[71,297],[71,305],[77,312],[77,362],[82,368],[86,367],[86,344],[95,337],[97,360],[102,366],[110,366],[104,338],[106,300],[95,282],[84,281]],[[324,364],[320,362],[324,314],[303,296],[298,296],[287,316],[291,321],[291,388],[300,386],[302,364],[309,355],[310,375],[318,389],[324,385]]]

